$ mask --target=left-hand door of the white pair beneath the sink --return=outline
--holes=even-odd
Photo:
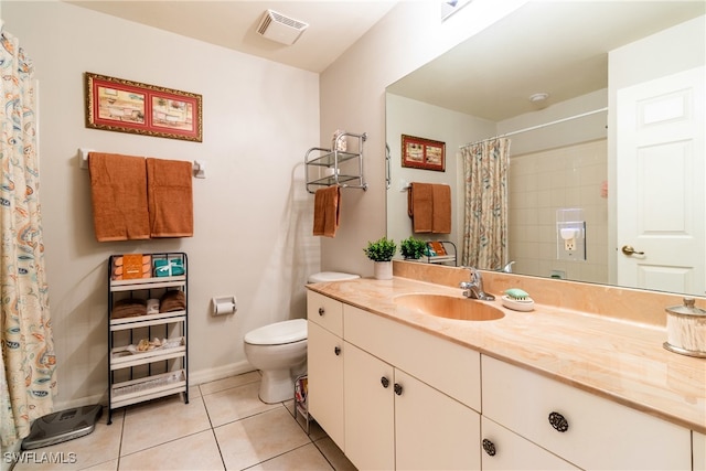
[[[347,342],[343,363],[345,365],[345,456],[361,470],[393,470],[395,469],[393,367]],[[387,384],[387,387],[384,384]]]

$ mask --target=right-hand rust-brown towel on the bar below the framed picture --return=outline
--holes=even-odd
[[[192,163],[147,158],[151,237],[192,237],[194,210]]]

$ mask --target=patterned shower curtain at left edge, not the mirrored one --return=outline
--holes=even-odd
[[[0,433],[28,436],[53,409],[55,356],[39,203],[34,68],[0,24]]]

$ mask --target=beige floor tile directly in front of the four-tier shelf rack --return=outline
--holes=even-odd
[[[201,397],[184,404],[180,396],[132,406],[126,410],[120,456],[211,428]]]

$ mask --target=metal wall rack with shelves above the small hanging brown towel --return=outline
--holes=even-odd
[[[351,139],[349,139],[351,138]],[[312,147],[304,156],[304,168],[307,173],[307,191],[315,193],[317,186],[340,185],[341,188],[353,188],[367,190],[367,183],[363,176],[363,143],[367,135],[356,135],[353,132],[338,133],[331,149]],[[349,146],[351,146],[349,148]],[[341,163],[357,160],[357,169],[351,173],[341,171]],[[346,165],[347,169],[354,165]]]

